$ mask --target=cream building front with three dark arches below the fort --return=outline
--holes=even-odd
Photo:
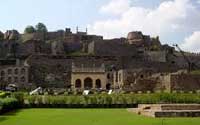
[[[76,67],[72,64],[71,83],[74,89],[106,89],[107,75],[105,66]]]

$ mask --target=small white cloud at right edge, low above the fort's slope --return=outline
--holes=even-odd
[[[200,52],[200,31],[193,32],[193,34],[185,38],[181,45],[184,51]]]

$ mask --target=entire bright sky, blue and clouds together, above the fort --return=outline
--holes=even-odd
[[[129,31],[142,30],[145,34],[159,35],[163,43],[185,44],[185,49],[193,50],[197,42],[189,38],[194,33],[197,38],[191,39],[200,38],[198,3],[199,0],[1,0],[0,30],[23,32],[27,25],[38,22],[51,31],[88,27],[89,33],[105,38],[125,37]],[[199,48],[200,45],[196,50]]]

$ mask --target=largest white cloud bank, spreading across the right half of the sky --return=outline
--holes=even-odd
[[[101,12],[113,14],[112,18],[90,24],[91,33],[113,38],[125,37],[130,31],[140,30],[145,34],[159,35],[162,39],[200,29],[200,14],[191,0],[169,0],[154,9],[131,6],[129,0],[117,0],[122,5],[120,9],[115,1],[111,0],[101,8]]]

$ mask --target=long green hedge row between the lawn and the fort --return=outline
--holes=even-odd
[[[27,107],[66,108],[126,108],[137,104],[199,103],[200,94],[154,93],[154,94],[97,94],[70,96],[25,96]]]

